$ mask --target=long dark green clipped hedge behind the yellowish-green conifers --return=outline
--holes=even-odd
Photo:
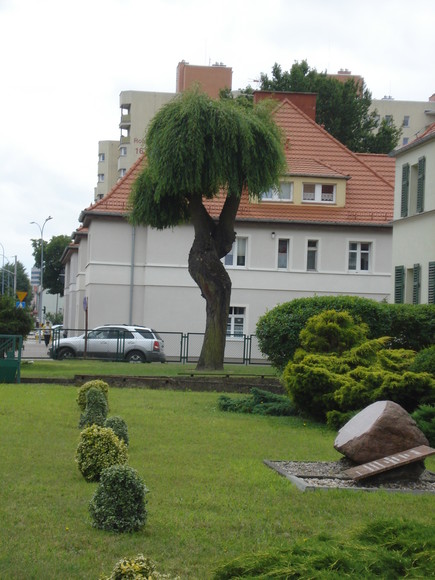
[[[299,333],[308,319],[325,310],[347,311],[369,327],[368,338],[390,336],[393,346],[419,351],[435,344],[435,306],[387,304],[357,296],[314,296],[276,306],[257,323],[261,351],[283,369],[300,347]]]

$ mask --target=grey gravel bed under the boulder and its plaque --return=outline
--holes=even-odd
[[[395,491],[435,494],[435,473],[424,471],[416,481],[370,483],[354,481],[343,474],[350,467],[346,461],[269,461],[265,465],[277,471],[302,491],[316,489],[353,489],[355,491]]]

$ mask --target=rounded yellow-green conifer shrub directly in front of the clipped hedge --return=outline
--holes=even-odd
[[[355,324],[348,312],[325,310],[308,320],[299,340],[307,352],[341,354],[364,342],[368,332],[367,324]]]

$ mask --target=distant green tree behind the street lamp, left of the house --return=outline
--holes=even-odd
[[[70,236],[53,236],[49,242],[44,241],[44,288],[49,294],[63,296],[64,277],[60,258],[70,242]],[[32,246],[35,265],[40,268],[41,240],[32,240]]]

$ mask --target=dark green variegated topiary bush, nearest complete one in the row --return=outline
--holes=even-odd
[[[92,525],[112,532],[134,532],[146,522],[148,492],[137,471],[128,465],[113,465],[101,474],[100,484],[89,503]]]

